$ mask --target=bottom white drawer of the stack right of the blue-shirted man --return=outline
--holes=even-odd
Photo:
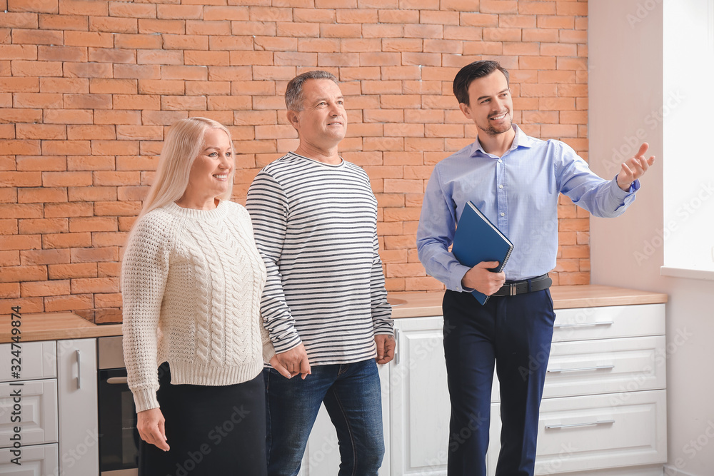
[[[666,462],[665,407],[665,390],[635,392],[620,405],[608,395],[543,400],[535,474]]]

